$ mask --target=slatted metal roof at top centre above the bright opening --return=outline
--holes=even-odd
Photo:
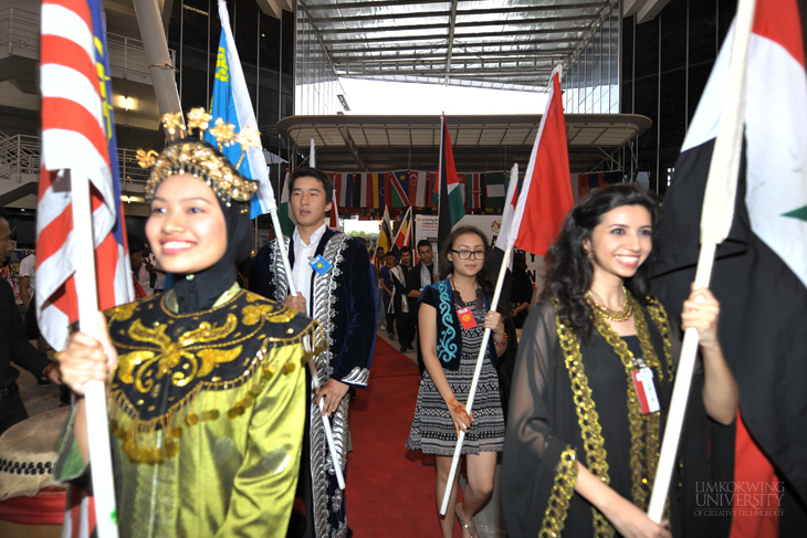
[[[300,0],[339,76],[535,91],[618,0]]]

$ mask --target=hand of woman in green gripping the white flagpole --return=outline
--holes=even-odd
[[[101,313],[98,316],[98,323],[103,324],[98,331],[102,341],[81,331],[74,333],[64,351],[59,355],[62,382],[78,395],[84,394],[84,383],[87,381],[99,380],[108,384],[117,368],[117,351],[109,342],[106,318]]]

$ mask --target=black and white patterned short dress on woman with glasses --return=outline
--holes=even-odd
[[[475,302],[465,303],[473,313],[476,326],[462,330],[462,356],[459,370],[443,368],[446,379],[457,401],[463,405],[471,391],[473,371],[476,367],[479,347],[484,334],[484,312],[478,312]],[[491,335],[491,338],[493,335]],[[423,371],[420,379],[418,401],[415,407],[415,419],[409,432],[406,447],[421,450],[425,454],[451,456],[457,445],[457,431],[446,401],[437,390],[429,371]],[[473,423],[465,434],[462,444],[463,454],[480,452],[501,452],[504,445],[504,414],[499,392],[499,376],[489,357],[485,357],[480,373],[476,394],[473,398]]]

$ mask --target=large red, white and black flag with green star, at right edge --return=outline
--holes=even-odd
[[[807,502],[807,75],[795,0],[757,0],[748,45],[745,150],[734,219],[717,247],[712,291],[721,302],[720,338],[740,386],[744,426],[787,484]],[[731,60],[730,31],[684,139],[659,222],[661,297],[678,307],[689,294],[709,163]],[[737,429],[742,431],[742,428]],[[740,434],[738,434],[740,435]],[[743,460],[735,483],[772,470]],[[759,483],[759,478],[754,478]],[[687,493],[685,493],[687,494]],[[735,516],[733,525],[764,521]],[[762,526],[761,526],[762,524]],[[737,530],[738,531],[738,530]],[[769,531],[769,529],[768,529]]]

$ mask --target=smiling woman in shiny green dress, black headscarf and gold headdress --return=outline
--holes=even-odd
[[[169,133],[177,119],[164,118]],[[209,120],[201,109],[188,115],[200,131]],[[221,145],[228,129],[220,134]],[[285,537],[305,418],[304,346],[317,325],[237,283],[235,264],[252,246],[253,181],[190,138],[140,157],[151,167],[146,234],[174,287],[107,310],[103,342],[71,337],[60,363],[77,404],[56,475],[81,479],[92,470],[83,386],[104,380],[122,537]]]

